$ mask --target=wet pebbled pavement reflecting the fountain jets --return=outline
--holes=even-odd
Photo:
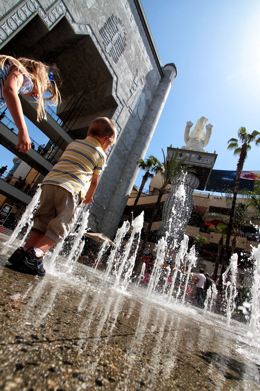
[[[1,247],[2,243],[0,243]],[[6,251],[6,249],[4,249]],[[38,278],[0,256],[0,390],[260,390],[246,325],[147,299],[76,263]],[[60,269],[60,272],[59,272]]]

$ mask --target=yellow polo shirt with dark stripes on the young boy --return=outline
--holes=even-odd
[[[63,152],[60,160],[47,174],[41,184],[62,186],[73,195],[85,197],[92,174],[101,174],[105,167],[106,154],[94,137],[74,140]]]

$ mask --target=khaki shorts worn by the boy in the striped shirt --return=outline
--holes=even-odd
[[[40,206],[34,214],[32,229],[38,229],[59,243],[68,236],[83,199],[61,186],[42,185]]]

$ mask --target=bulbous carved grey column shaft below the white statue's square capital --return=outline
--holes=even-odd
[[[169,232],[168,242],[178,245],[184,237],[193,207],[193,191],[200,180],[193,173],[183,173],[171,180],[172,188],[162,211],[162,222],[157,236],[161,238]],[[172,220],[172,221],[171,221]]]

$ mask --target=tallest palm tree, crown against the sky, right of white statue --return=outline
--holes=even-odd
[[[239,155],[239,161],[237,164],[236,183],[235,183],[235,190],[233,194],[232,206],[231,206],[227,234],[226,234],[225,250],[222,258],[222,267],[220,272],[220,289],[222,288],[221,276],[225,272],[226,265],[227,265],[229,241],[231,237],[233,217],[234,217],[236,200],[237,200],[237,195],[239,190],[240,175],[244,166],[245,159],[247,158],[247,152],[251,150],[250,143],[252,143],[253,141],[255,142],[256,145],[260,143],[260,137],[258,137],[259,134],[260,132],[257,130],[254,130],[251,134],[247,133],[246,129],[244,127],[241,127],[238,131],[238,139],[231,138],[228,141],[229,145],[227,148],[230,150],[234,150],[234,155]],[[239,146],[239,143],[241,143],[241,146]]]

